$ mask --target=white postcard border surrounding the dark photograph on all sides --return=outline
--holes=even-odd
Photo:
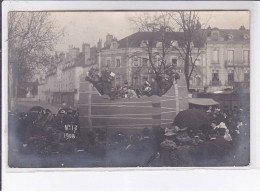
[[[251,14],[251,23],[250,23],[250,30],[251,30],[251,42],[250,42],[250,50],[251,50],[251,97],[250,97],[250,103],[251,103],[251,114],[250,114],[250,127],[251,127],[251,139],[250,139],[250,165],[248,167],[205,167],[205,168],[198,168],[198,167],[190,167],[190,168],[182,168],[182,167],[160,167],[160,168],[26,168],[26,169],[18,169],[18,168],[9,168],[7,165],[7,75],[8,75],[8,68],[7,68],[7,13],[8,11],[87,11],[87,10],[249,10]],[[256,72],[259,72],[259,37],[257,37],[258,34],[260,34],[260,26],[258,18],[260,18],[260,3],[259,2],[196,2],[196,1],[164,1],[164,2],[158,2],[158,1],[5,1],[2,3],[2,29],[3,29],[3,39],[2,39],[2,147],[3,147],[3,153],[2,153],[2,171],[3,171],[3,188],[14,188],[15,185],[17,188],[59,188],[59,189],[70,189],[72,188],[69,184],[64,185],[63,187],[57,180],[61,180],[61,182],[66,183],[65,178],[69,178],[70,180],[73,180],[73,177],[79,180],[80,178],[86,179],[85,175],[90,175],[90,177],[95,180],[96,176],[99,176],[101,180],[106,180],[108,182],[114,182],[114,181],[122,181],[125,180],[125,186],[131,187],[131,181],[137,181],[139,178],[143,177],[143,174],[146,174],[146,177],[149,179],[152,176],[160,177],[163,176],[167,178],[168,176],[172,176],[172,174],[175,174],[176,176],[179,176],[180,178],[184,178],[187,176],[194,176],[197,177],[195,181],[199,182],[198,173],[205,174],[205,169],[207,169],[207,173],[209,175],[211,174],[213,177],[218,177],[218,175],[230,176],[231,174],[236,174],[237,170],[241,172],[240,169],[256,169],[259,168],[259,160],[257,160],[257,156],[259,156],[259,151],[257,153],[256,148],[259,147],[259,135],[256,131],[257,126],[259,126],[259,121],[257,121],[257,113],[259,113],[260,103],[257,102],[257,94],[260,92],[259,85],[256,83],[260,83],[260,76],[256,76]],[[258,52],[258,53],[257,53]],[[257,155],[258,154],[258,155]],[[172,171],[175,170],[175,171]],[[186,170],[186,171],[185,171]],[[189,171],[187,171],[189,170]],[[218,171],[217,171],[218,170]],[[219,171],[221,170],[221,171]],[[233,171],[229,175],[228,172]],[[62,172],[67,172],[66,174],[62,174]],[[104,171],[104,174],[101,174]],[[23,172],[23,173],[22,173]],[[31,172],[38,172],[38,173],[31,173]],[[53,173],[55,172],[55,173]],[[170,172],[171,175],[168,173]],[[183,174],[185,172],[185,174]],[[76,174],[75,174],[76,173]],[[90,173],[90,174],[88,174]],[[114,174],[113,174],[114,173]],[[116,174],[115,174],[116,173]],[[152,173],[150,175],[150,173]],[[206,173],[206,174],[207,174]],[[224,173],[224,175],[223,175]],[[112,175],[111,175],[112,174]],[[122,179],[120,176],[118,177],[118,174],[122,176]],[[132,175],[133,176],[132,176]],[[157,175],[156,175],[157,174]],[[164,175],[163,175],[164,174]],[[247,176],[246,173],[245,177]],[[24,176],[26,175],[26,176]],[[111,175],[113,178],[110,179],[109,176]],[[21,176],[27,177],[30,180],[33,180],[32,184],[26,183],[26,179],[21,178]],[[83,176],[83,177],[82,177]],[[127,181],[125,178],[126,176],[130,177],[136,177],[136,178],[130,178],[130,182]],[[207,176],[207,175],[206,175]],[[243,176],[243,175],[232,175],[233,176]],[[34,178],[33,178],[34,177]],[[138,178],[139,177],[139,178]],[[46,179],[45,181],[51,182],[54,181],[57,185],[49,185],[48,187],[43,187],[41,183],[37,182],[37,180]],[[177,177],[172,177],[172,181],[176,181]],[[206,177],[204,177],[205,179]],[[209,179],[212,179],[208,177]],[[175,180],[176,179],[176,180]],[[203,180],[204,180],[203,179]],[[90,181],[89,183],[93,182]],[[99,179],[97,179],[99,180]],[[103,180],[103,181],[104,181]],[[207,179],[205,179],[207,180]],[[17,182],[20,181],[20,182]],[[86,184],[84,184],[84,181],[80,181],[78,183],[81,185],[79,188],[98,188],[99,186],[96,185],[96,188],[93,187],[93,185],[87,184],[89,181],[89,177],[86,179]],[[145,181],[145,180],[144,180]],[[182,180],[184,181],[184,180]],[[212,181],[212,180],[211,180]],[[15,182],[14,185],[10,185],[11,182]],[[160,182],[160,181],[159,181]],[[163,182],[163,181],[161,181]],[[185,181],[184,181],[185,182]],[[168,181],[164,180],[164,183],[168,184]],[[150,184],[153,184],[152,182]],[[178,188],[184,184],[183,182],[179,181],[179,185],[175,185],[174,188]],[[190,184],[190,183],[188,183]],[[194,183],[192,183],[193,185]],[[31,185],[29,187],[29,185]],[[111,188],[111,186],[107,185],[105,183],[107,188]],[[145,184],[146,185],[146,184]],[[210,185],[212,185],[210,182],[204,185],[205,188],[211,188]],[[151,185],[155,186],[155,185]],[[241,185],[240,185],[241,186]],[[121,188],[122,185],[119,185],[118,188]],[[167,187],[167,186],[166,186]],[[172,188],[173,186],[169,186],[167,188]],[[123,187],[125,188],[125,187]],[[131,187],[132,188],[132,187]],[[117,188],[116,188],[117,189]]]

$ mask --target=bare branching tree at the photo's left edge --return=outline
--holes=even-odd
[[[62,34],[48,12],[9,12],[9,99],[17,97],[19,84],[50,64],[51,51]]]

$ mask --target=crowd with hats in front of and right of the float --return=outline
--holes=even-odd
[[[131,135],[123,130],[91,132],[89,149],[103,155],[109,167],[248,165],[249,121],[245,111],[215,109],[207,114],[211,125],[199,130],[172,126],[144,128]]]

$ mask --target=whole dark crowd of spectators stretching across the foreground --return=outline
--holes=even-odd
[[[14,122],[14,115],[10,117],[10,126],[23,123],[27,128],[19,129],[18,136],[23,137],[20,148],[39,154],[81,150],[101,158],[103,163],[98,165],[106,167],[243,166],[249,163],[249,112],[242,109],[209,108],[204,112],[209,125],[199,129],[176,125],[144,128],[140,133],[95,129],[81,138],[79,130],[70,127],[77,135],[66,139],[64,134],[70,132],[66,131],[66,124],[78,125],[76,112],[71,111],[61,108],[54,115],[47,109],[34,107],[26,114],[19,113],[20,124]]]

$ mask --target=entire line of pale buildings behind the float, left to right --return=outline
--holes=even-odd
[[[243,26],[240,29],[205,29],[205,44],[195,62],[190,78],[190,89],[193,91],[215,92],[227,88],[247,89],[250,80],[250,31]],[[160,36],[160,32],[136,32],[121,40],[108,34],[104,45],[99,40],[97,47],[83,43],[82,49],[69,46],[67,53],[56,53],[52,65],[39,82],[38,94],[41,101],[59,104],[67,101],[76,106],[79,98],[80,76],[92,66],[97,65],[100,71],[109,67],[115,73],[113,85],[143,85],[151,81],[154,71],[149,64],[146,41]],[[175,48],[181,47],[183,33],[169,32],[165,35]],[[153,52],[160,53],[160,41],[154,41]],[[196,43],[194,43],[196,47]],[[192,55],[198,53],[193,50]],[[159,60],[155,57],[159,63]],[[184,70],[184,61],[176,49],[168,49],[166,65]],[[192,67],[190,66],[190,69]]]

